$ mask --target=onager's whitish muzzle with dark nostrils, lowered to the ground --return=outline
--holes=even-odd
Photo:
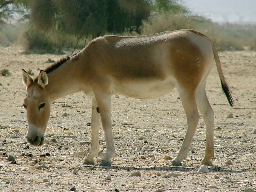
[[[44,143],[44,134],[34,125],[28,125],[26,138],[30,145],[41,146]]]

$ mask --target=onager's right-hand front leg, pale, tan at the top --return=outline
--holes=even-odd
[[[111,121],[111,94],[109,92],[102,92],[94,90],[95,98],[97,100],[101,124],[105,133],[107,151],[105,156],[101,159],[101,166],[110,166],[110,159],[115,156],[115,144],[112,132],[112,121]]]

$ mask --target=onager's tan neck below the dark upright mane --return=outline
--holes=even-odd
[[[46,88],[52,101],[80,91],[77,78],[78,64],[78,60],[72,57],[47,74]]]

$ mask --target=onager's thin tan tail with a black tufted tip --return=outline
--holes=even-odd
[[[222,73],[222,68],[221,68],[221,65],[220,65],[220,58],[219,58],[218,52],[216,50],[216,47],[213,43],[212,43],[212,50],[213,50],[214,60],[216,62],[216,66],[217,66],[217,71],[218,71],[218,74],[220,76],[221,88],[222,88],[223,92],[225,93],[225,95],[228,99],[229,105],[231,107],[233,107],[235,102],[234,102],[234,100],[231,96],[230,89],[229,89],[228,84],[226,82],[226,79],[225,79],[225,77]]]

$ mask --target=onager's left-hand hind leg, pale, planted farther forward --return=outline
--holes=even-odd
[[[178,155],[172,160],[172,165],[181,166],[181,161],[188,156],[189,148],[194,137],[196,127],[199,121],[199,113],[196,106],[195,90],[184,89],[177,86],[180,99],[187,116],[188,129]]]

